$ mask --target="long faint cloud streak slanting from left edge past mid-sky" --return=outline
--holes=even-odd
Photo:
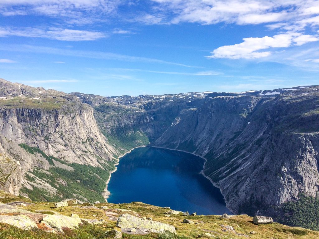
[[[99,51],[82,51],[82,50],[70,50],[70,49],[60,49],[53,47],[38,47],[32,45],[1,45],[0,50],[3,51],[17,51],[17,52],[34,52],[34,53],[46,53],[46,54],[56,54],[56,55],[67,55],[67,56],[77,56],[85,58],[94,58],[94,59],[114,59],[118,61],[127,61],[127,62],[145,62],[145,63],[159,63],[159,64],[168,64],[189,68],[202,68],[198,66],[190,66],[182,63],[168,62],[154,58],[140,57],[140,56],[129,56],[122,55],[110,52],[99,52]]]

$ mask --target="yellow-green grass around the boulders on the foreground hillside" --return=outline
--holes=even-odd
[[[11,194],[0,191],[0,202],[7,203],[11,201],[30,201],[25,198],[13,196]],[[174,225],[177,229],[177,235],[127,235],[123,233],[124,239],[187,239],[187,238],[245,238],[246,235],[249,238],[256,239],[315,239],[319,238],[319,232],[311,231],[309,229],[284,226],[279,223],[255,225],[252,222],[252,218],[247,215],[236,215],[231,218],[220,218],[218,215],[198,215],[198,216],[182,216],[171,215],[165,216],[165,212],[168,209],[164,209],[158,206],[152,206],[143,204],[141,202],[132,202],[124,204],[111,204],[100,203],[96,204],[97,208],[83,208],[85,205],[67,206],[62,208],[54,208],[53,203],[48,202],[35,202],[33,201],[29,206],[22,206],[23,209],[29,211],[45,210],[44,213],[52,214],[52,212],[58,212],[62,215],[70,216],[72,213],[78,214],[80,218],[84,219],[103,219],[104,223],[99,225],[89,225],[84,223],[80,228],[76,230],[66,230],[65,234],[51,234],[41,231],[41,228],[32,229],[30,231],[24,231],[8,224],[0,224],[0,238],[29,238],[29,239],[99,239],[103,238],[103,233],[107,230],[115,228],[116,218],[111,220],[107,216],[107,212],[113,212],[121,214],[121,209],[126,209],[125,213],[135,214],[139,216],[152,217],[154,221],[161,221],[170,225]],[[108,209],[100,209],[102,206],[108,206]],[[0,211],[1,212],[1,211]],[[96,215],[95,217],[93,215]],[[183,224],[181,223],[184,218],[197,222],[198,224]],[[234,230],[225,229],[226,226],[231,226]],[[255,234],[250,234],[251,231],[255,231]],[[211,236],[204,235],[205,233],[211,234]]]

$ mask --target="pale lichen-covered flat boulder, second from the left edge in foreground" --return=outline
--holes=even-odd
[[[64,215],[46,215],[41,222],[62,233],[62,228],[76,229],[78,225],[82,223],[78,217],[68,217]]]

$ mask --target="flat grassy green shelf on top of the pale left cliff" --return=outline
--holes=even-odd
[[[61,97],[45,97],[41,99],[14,97],[11,99],[0,99],[0,106],[5,108],[36,108],[56,110],[60,109],[66,101]]]

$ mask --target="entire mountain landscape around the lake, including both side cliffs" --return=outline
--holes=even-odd
[[[0,84],[6,191],[104,201],[118,157],[151,143],[203,156],[234,214],[319,229],[303,213],[318,214],[319,86],[102,97]]]

